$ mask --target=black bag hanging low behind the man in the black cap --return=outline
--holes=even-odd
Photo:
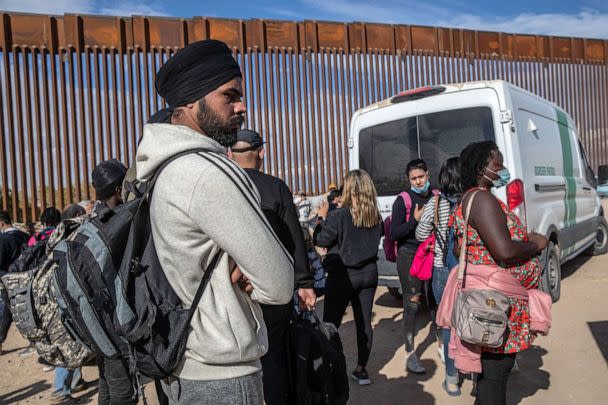
[[[346,359],[338,329],[312,312],[299,314],[290,328],[293,394],[298,405],[348,402]]]

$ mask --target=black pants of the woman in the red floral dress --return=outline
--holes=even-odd
[[[475,405],[507,403],[507,382],[514,364],[515,354],[481,354],[481,374],[477,376]]]

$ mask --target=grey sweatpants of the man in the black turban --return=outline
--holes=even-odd
[[[227,380],[193,381],[172,378],[162,382],[170,405],[262,405],[262,373]]]

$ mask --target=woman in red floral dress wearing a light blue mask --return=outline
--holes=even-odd
[[[460,154],[461,181],[466,194],[454,213],[456,235],[465,232],[462,207],[466,207],[470,191],[480,190],[473,201],[467,233],[467,262],[499,265],[507,269],[526,289],[537,288],[541,275],[539,254],[547,239],[527,233],[520,219],[490,193],[492,187],[504,187],[510,181],[503,156],[492,141],[467,146]],[[477,380],[477,405],[506,403],[507,381],[515,362],[515,354],[530,347],[528,303],[510,299],[511,309],[504,344],[484,348],[481,356],[482,373]]]

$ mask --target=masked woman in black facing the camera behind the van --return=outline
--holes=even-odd
[[[407,353],[406,369],[412,373],[425,373],[415,351],[416,313],[421,305],[424,281],[410,275],[420,242],[416,239],[416,227],[422,217],[424,206],[432,196],[429,170],[422,159],[410,161],[405,169],[410,183],[409,194],[411,207],[407,207],[402,196],[393,203],[391,237],[397,242],[397,273],[403,293],[403,333]]]

